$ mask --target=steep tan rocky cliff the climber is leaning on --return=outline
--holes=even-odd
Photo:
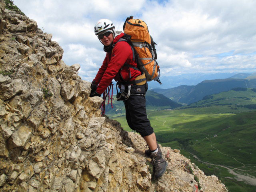
[[[168,147],[167,172],[152,179],[144,140],[100,116],[102,98],[51,38],[0,0],[0,191],[227,191]]]

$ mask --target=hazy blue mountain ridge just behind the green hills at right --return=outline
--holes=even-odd
[[[254,74],[236,74],[231,78],[204,80],[195,86],[182,85],[170,89],[153,89],[171,100],[191,104],[202,100],[204,96],[229,91],[232,88],[256,88]]]

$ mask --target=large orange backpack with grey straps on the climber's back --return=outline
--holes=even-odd
[[[154,80],[162,84],[159,80],[160,69],[156,62],[156,43],[148,32],[147,24],[140,19],[133,19],[133,16],[130,16],[124,22],[123,29],[125,34],[131,36],[131,46],[134,47],[136,52],[138,68],[145,73],[146,80]]]

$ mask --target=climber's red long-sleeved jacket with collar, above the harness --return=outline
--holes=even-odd
[[[123,33],[116,36],[113,44],[123,36]],[[93,80],[98,85],[96,90],[98,94],[102,94],[113,79],[121,82],[132,81],[141,75],[140,71],[130,68],[131,78],[129,78],[129,68],[124,66],[124,63],[137,67],[137,63],[133,60],[131,46],[125,41],[120,41],[112,51],[106,54],[103,64]]]

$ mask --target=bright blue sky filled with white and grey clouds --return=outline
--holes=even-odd
[[[105,57],[94,25],[108,18],[122,30],[127,16],[148,24],[161,76],[256,72],[255,0],[14,0],[64,49],[66,64],[81,65],[92,81]]]

